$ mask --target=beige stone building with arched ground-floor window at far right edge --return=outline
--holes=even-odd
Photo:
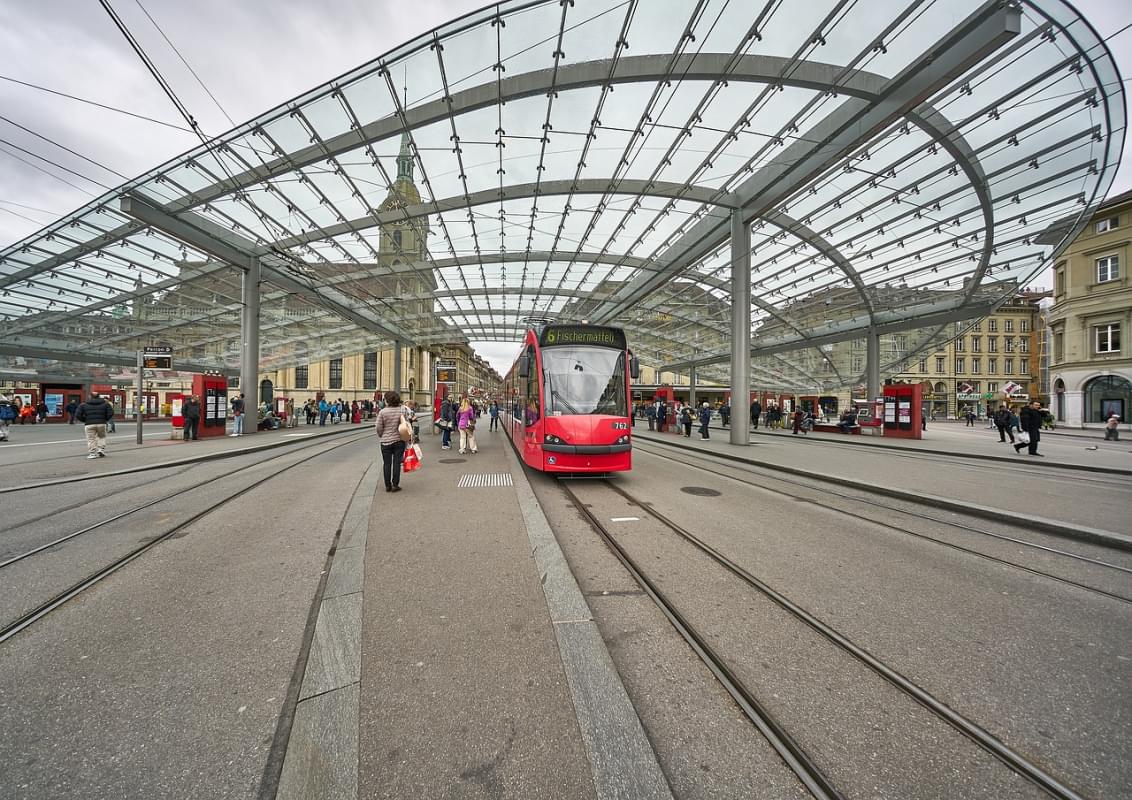
[[[1070,428],[1132,412],[1132,192],[1103,203],[1054,266],[1049,309],[1052,411]]]

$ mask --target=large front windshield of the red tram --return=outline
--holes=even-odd
[[[627,416],[625,353],[609,347],[543,347],[546,413]]]

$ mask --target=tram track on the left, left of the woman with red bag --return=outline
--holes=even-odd
[[[362,431],[359,431],[359,432],[362,432]],[[183,519],[178,521],[175,524],[173,524],[172,526],[170,526],[170,527],[161,531],[160,533],[156,533],[154,535],[148,535],[148,536],[144,537],[143,540],[140,540],[140,544],[138,544],[137,547],[132,547],[132,548],[128,549],[127,552],[125,552],[123,554],[120,554],[120,556],[113,558],[110,562],[108,562],[108,564],[98,567],[93,573],[87,574],[82,579],[71,583],[69,586],[67,586],[66,588],[63,588],[63,590],[61,590],[59,592],[55,592],[53,595],[51,595],[45,601],[42,601],[42,602],[37,603],[33,608],[27,609],[27,610],[23,611],[22,613],[17,614],[14,619],[11,619],[11,620],[9,620],[9,621],[3,622],[2,625],[0,625],[0,645],[2,645],[3,643],[8,642],[12,637],[17,636],[22,631],[27,630],[29,627],[32,627],[33,625],[35,625],[40,620],[44,619],[45,617],[48,617],[53,611],[55,611],[59,608],[63,607],[70,600],[74,600],[75,597],[82,595],[88,588],[97,585],[103,579],[110,577],[111,575],[113,575],[118,570],[122,569],[123,567],[126,567],[128,564],[130,564],[135,559],[137,559],[140,556],[145,554],[146,552],[153,550],[155,547],[157,547],[162,542],[168,541],[170,537],[177,535],[179,532],[183,531],[189,525],[191,525],[191,524],[198,522],[199,519],[201,519],[203,517],[212,514],[217,508],[221,508],[222,506],[225,506],[226,504],[231,502],[232,500],[235,500],[237,498],[239,498],[239,497],[241,497],[241,496],[243,496],[243,494],[246,494],[246,493],[248,493],[248,492],[250,492],[250,491],[252,491],[252,490],[255,490],[257,488],[260,488],[266,481],[275,479],[278,475],[281,475],[281,474],[283,474],[283,473],[285,473],[285,472],[288,472],[290,470],[293,470],[297,466],[301,466],[301,465],[303,465],[303,464],[306,464],[306,463],[308,463],[308,462],[310,462],[310,461],[312,461],[315,458],[324,456],[324,455],[326,455],[328,453],[332,453],[334,450],[337,450],[337,449],[340,449],[342,447],[348,447],[350,445],[355,445],[355,444],[359,444],[359,442],[365,442],[366,440],[367,440],[367,437],[361,436],[361,437],[351,437],[351,438],[349,438],[349,439],[346,439],[344,441],[342,441],[342,440],[334,441],[333,444],[329,444],[329,445],[327,445],[325,441],[321,441],[321,440],[318,440],[318,439],[312,440],[312,441],[307,441],[307,442],[303,442],[303,444],[299,445],[295,450],[293,450],[292,453],[288,454],[288,455],[300,455],[302,457],[293,461],[292,463],[285,464],[285,465],[281,466],[280,468],[276,468],[276,470],[272,471],[266,476],[257,479],[257,480],[252,481],[251,483],[249,483],[248,485],[241,487],[241,488],[239,488],[239,489],[237,489],[237,490],[234,490],[234,491],[225,494],[218,501],[215,501],[215,502],[208,505],[206,508],[201,509],[200,511],[197,511],[195,514],[189,515],[188,517],[186,517]],[[305,453],[306,450],[311,450],[311,449],[316,449],[316,451],[315,453],[309,453],[309,454]],[[245,465],[239,466],[239,467],[237,467],[234,470],[228,471],[228,472],[225,472],[225,473],[223,473],[221,475],[216,475],[216,476],[209,478],[209,479],[207,479],[205,481],[197,482],[197,483],[195,483],[192,485],[182,487],[182,488],[180,488],[180,489],[178,489],[175,491],[172,491],[172,492],[166,492],[166,493],[162,494],[161,497],[158,497],[158,498],[156,498],[154,500],[151,500],[151,501],[147,501],[147,502],[144,502],[144,504],[139,504],[139,505],[137,505],[137,506],[135,506],[132,508],[129,508],[129,509],[125,510],[125,511],[114,514],[114,515],[112,515],[111,517],[109,517],[106,519],[103,519],[103,521],[101,521],[98,523],[95,523],[94,525],[84,526],[83,528],[80,528],[78,531],[71,532],[71,533],[69,533],[69,534],[67,534],[65,536],[61,536],[61,537],[57,537],[55,540],[53,540],[51,542],[48,542],[45,544],[32,548],[32,549],[29,549],[29,550],[27,550],[27,551],[25,551],[23,553],[19,553],[19,554],[17,554],[15,557],[10,557],[10,558],[6,559],[5,561],[0,562],[0,569],[12,567],[12,566],[15,566],[17,564],[20,564],[20,562],[25,561],[26,559],[28,559],[31,557],[44,553],[44,552],[50,551],[52,549],[57,549],[61,544],[66,544],[69,541],[75,541],[75,540],[79,539],[80,536],[91,533],[92,531],[102,528],[102,527],[104,527],[104,526],[106,526],[106,525],[109,525],[109,524],[111,524],[113,522],[117,522],[117,521],[123,519],[126,517],[129,517],[131,515],[135,515],[138,511],[143,511],[143,510],[145,510],[147,508],[152,508],[152,507],[157,506],[160,504],[168,502],[169,500],[171,500],[173,498],[185,496],[185,494],[187,494],[187,493],[189,493],[191,491],[199,490],[203,487],[206,487],[208,484],[216,483],[217,481],[221,481],[221,480],[224,480],[224,479],[232,479],[233,476],[239,475],[241,473],[247,473],[247,472],[250,472],[252,470],[263,467],[265,464],[268,464],[271,461],[274,461],[276,458],[278,458],[278,455],[272,454],[267,458],[263,458],[263,459],[256,461],[252,464],[245,464]]]

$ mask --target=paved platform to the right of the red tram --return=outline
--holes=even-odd
[[[998,444],[997,431],[990,438],[992,431],[963,427],[933,431],[929,425],[928,432],[931,437],[921,440],[883,440],[761,429],[751,432],[749,445],[736,446],[727,429],[711,428],[706,441],[696,429],[692,438],[649,431],[640,424],[635,429],[641,442],[706,450],[831,487],[858,485],[918,504],[1132,548],[1126,523],[1132,456],[1122,451],[1126,442],[1108,442],[1104,451],[1094,451],[1079,442],[1043,440],[1040,449],[1047,457],[1032,458]],[[1072,502],[1066,502],[1070,496]]]

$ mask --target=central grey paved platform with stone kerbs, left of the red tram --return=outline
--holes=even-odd
[[[278,797],[670,797],[503,433],[424,439],[346,513]]]

